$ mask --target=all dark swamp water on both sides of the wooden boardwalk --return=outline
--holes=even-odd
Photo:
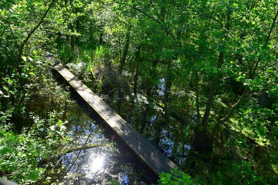
[[[82,80],[83,74],[76,73],[74,67],[67,68]],[[58,81],[62,80],[58,78]],[[172,117],[166,122],[163,109],[156,102],[140,93],[132,94],[127,87],[121,94],[116,87],[115,93],[107,95],[105,89],[98,93],[90,81],[83,82],[174,163],[184,165],[190,151],[186,138],[180,133],[184,124]],[[161,80],[158,86],[161,89],[159,95],[163,96],[164,81]],[[72,89],[62,91],[71,91],[72,98],[77,100],[63,105],[65,111],[61,115],[67,121],[72,141],[66,143],[68,151],[65,155],[52,159],[57,173],[51,176],[50,183],[58,179],[64,184],[156,184],[157,176]],[[34,107],[35,113],[48,114],[44,102],[38,100]]]

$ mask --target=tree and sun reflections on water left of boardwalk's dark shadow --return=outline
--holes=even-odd
[[[66,184],[107,184],[107,181],[112,179],[122,184],[142,181],[140,174],[135,170],[138,160],[134,160],[134,157],[126,154],[124,150],[120,152],[116,144],[105,137],[103,125],[95,124],[88,114],[90,110],[82,111],[78,105],[69,106],[67,109],[67,127],[72,131],[73,139],[67,147],[78,148],[87,139],[86,145],[94,145],[81,152],[76,150],[64,155],[62,158],[64,171],[71,168],[64,174],[63,181]]]

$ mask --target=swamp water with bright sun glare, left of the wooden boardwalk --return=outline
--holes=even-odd
[[[71,96],[76,101],[60,102],[58,105],[64,109],[59,117],[67,121],[71,141],[65,144],[68,148],[65,155],[50,159],[55,164],[56,173],[49,176],[49,184],[57,181],[64,184],[156,183],[157,177],[153,172],[107,128],[72,89],[64,85],[58,91],[71,91]],[[34,114],[48,115],[51,108],[46,107],[45,101],[51,102],[53,97],[46,99],[33,102],[29,110]]]

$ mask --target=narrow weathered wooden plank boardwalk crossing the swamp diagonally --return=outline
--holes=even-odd
[[[170,159],[154,147],[145,137],[132,128],[121,116],[113,111],[100,97],[60,64],[50,53],[45,57],[54,63],[54,69],[74,88],[97,114],[117,133],[144,163],[157,175],[162,171],[170,173],[177,167]]]

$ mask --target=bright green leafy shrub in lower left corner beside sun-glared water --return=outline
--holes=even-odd
[[[1,112],[5,117],[5,113]],[[1,116],[2,118],[3,116]],[[7,117],[7,116],[6,116]],[[0,173],[19,184],[30,184],[44,173],[44,160],[56,155],[66,135],[66,127],[57,121],[56,113],[48,120],[30,115],[34,124],[15,133],[12,124],[0,124]]]

